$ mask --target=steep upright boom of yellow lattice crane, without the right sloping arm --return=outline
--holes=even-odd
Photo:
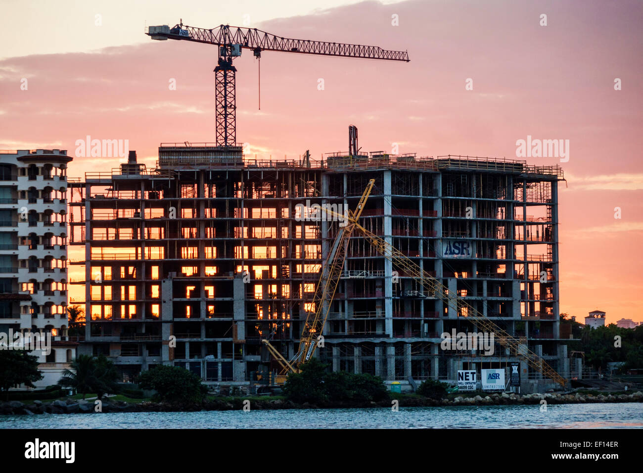
[[[353,230],[355,230],[356,227],[360,227],[358,225],[358,219],[374,185],[374,179],[368,181],[367,187],[359,199],[357,207],[355,210],[349,210],[348,215],[340,215],[332,210],[322,208],[326,212],[336,216],[340,221],[346,221],[346,223],[343,226],[340,225],[340,231],[332,243],[326,261],[321,264],[320,279],[312,299],[314,312],[308,312],[305,324],[303,324],[299,349],[293,360],[288,361],[268,340],[261,340],[271,355],[273,355],[282,366],[284,369],[283,373],[299,373],[299,366],[310,360],[317,348],[318,337],[323,332],[323,327],[331,310],[332,299],[340,283],[341,270],[344,267],[344,260],[346,259],[346,246],[349,243]]]

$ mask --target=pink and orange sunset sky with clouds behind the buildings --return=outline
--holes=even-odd
[[[284,37],[408,50],[408,63],[264,51],[260,110],[257,60],[244,50],[235,60],[237,141],[257,158],[309,149],[318,159],[346,151],[354,124],[365,151],[397,143],[419,156],[516,159],[527,135],[569,140],[568,162],[525,158],[565,171],[561,312],[643,320],[640,1],[3,0],[0,14],[0,149],[73,154],[90,135],[129,140],[148,167],[161,142],[215,140],[217,51],[152,41],[146,24],[249,22]],[[75,158],[68,175],[122,161]]]

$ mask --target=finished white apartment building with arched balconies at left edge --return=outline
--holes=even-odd
[[[67,151],[0,151],[0,333],[51,335],[39,357],[55,384],[75,358],[68,340]],[[6,347],[5,347],[6,348]]]

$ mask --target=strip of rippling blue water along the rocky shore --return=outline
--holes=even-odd
[[[0,416],[0,429],[643,428],[643,403]]]

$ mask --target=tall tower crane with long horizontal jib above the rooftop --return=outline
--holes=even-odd
[[[257,58],[261,57],[261,51],[281,51],[409,62],[406,51],[389,51],[378,46],[363,46],[361,44],[284,38],[257,30],[257,28],[240,28],[228,24],[206,29],[184,25],[181,20],[172,28],[167,24],[150,26],[146,34],[157,40],[177,39],[219,46],[219,59],[214,69],[217,146],[235,146],[237,139],[237,106],[235,104],[237,68],[233,66],[232,62],[241,55],[241,51],[244,49],[252,50]]]

